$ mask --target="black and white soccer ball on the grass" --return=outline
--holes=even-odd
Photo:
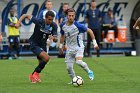
[[[72,79],[72,85],[75,87],[82,86],[83,83],[84,83],[84,80],[80,76],[76,76]]]

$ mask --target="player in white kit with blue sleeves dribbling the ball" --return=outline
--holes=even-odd
[[[67,71],[71,78],[74,78],[75,71],[73,69],[74,62],[76,62],[80,67],[82,67],[89,76],[90,80],[94,79],[93,71],[89,69],[87,63],[83,62],[84,44],[82,39],[82,34],[88,32],[93,40],[93,45],[95,49],[99,49],[95,36],[91,29],[85,27],[79,22],[75,21],[75,10],[70,8],[67,10],[67,21],[60,25],[61,37],[59,50],[63,53],[63,42],[66,40],[67,50],[65,56],[65,62],[67,65]]]

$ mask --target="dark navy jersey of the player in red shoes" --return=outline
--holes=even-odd
[[[35,23],[35,28],[32,36],[29,38],[29,41],[35,43],[37,46],[46,46],[46,41],[49,35],[57,35],[57,25],[52,23],[50,25],[45,24],[44,19],[37,19],[32,17],[31,19]]]

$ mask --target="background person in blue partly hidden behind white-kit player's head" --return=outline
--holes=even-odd
[[[66,17],[66,11],[69,9],[69,4],[68,3],[63,3],[63,7],[62,7],[63,11],[59,16],[59,23],[63,23],[67,21],[67,17]]]

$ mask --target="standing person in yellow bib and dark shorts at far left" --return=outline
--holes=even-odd
[[[10,9],[10,17],[8,18],[8,42],[9,42],[9,59],[18,58],[20,53],[20,33],[19,29],[15,27],[15,24],[18,22],[17,17],[15,16],[15,10]],[[16,51],[16,53],[14,53]]]

